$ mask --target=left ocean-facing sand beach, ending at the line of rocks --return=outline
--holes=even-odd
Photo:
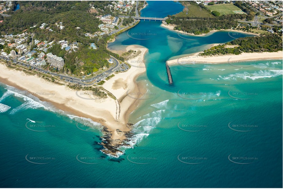
[[[63,111],[73,113],[79,117],[90,118],[113,132],[113,139],[122,139],[114,132],[116,129],[126,129],[122,124],[117,123],[114,118],[116,114],[114,99],[110,97],[102,99],[89,94],[83,94],[85,96],[81,95],[81,98],[81,92],[86,91],[76,91],[65,85],[49,83],[37,76],[26,75],[24,72],[8,69],[3,64],[0,64],[0,74],[2,83],[9,83],[10,86],[26,90],[33,96],[42,99],[41,101],[50,102]],[[101,106],[102,104],[104,106]],[[93,111],[96,113],[93,114]],[[115,125],[117,126],[115,127]]]

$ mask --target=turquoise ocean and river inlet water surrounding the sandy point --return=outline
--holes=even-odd
[[[182,9],[149,1],[141,15]],[[119,158],[99,151],[99,124],[1,84],[2,187],[282,187],[282,60],[171,65],[169,85],[166,60],[242,35],[160,24],[142,20],[109,44],[149,50],[137,81],[150,95],[131,113],[133,148]]]

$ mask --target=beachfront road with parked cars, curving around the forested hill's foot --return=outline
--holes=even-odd
[[[61,80],[65,80],[68,83],[81,84],[81,85],[93,85],[94,83],[97,83],[101,80],[104,80],[106,77],[110,76],[113,72],[115,72],[117,69],[119,69],[121,67],[121,65],[119,64],[119,61],[116,58],[114,58],[112,56],[110,56],[110,57],[114,61],[114,64],[108,70],[105,70],[103,73],[96,75],[96,76],[93,76],[92,78],[89,78],[89,79],[79,79],[79,78],[72,77],[72,76],[66,76],[66,75],[63,75],[63,74],[53,73],[53,72],[50,72],[48,70],[41,69],[37,66],[33,66],[33,65],[29,65],[29,64],[26,64],[26,63],[23,63],[23,62],[19,62],[16,58],[13,59],[13,63],[34,69],[37,72],[50,74],[52,76],[58,76],[58,77],[60,77]],[[5,60],[5,61],[12,61],[9,58],[3,57],[3,56],[0,56],[0,58]]]

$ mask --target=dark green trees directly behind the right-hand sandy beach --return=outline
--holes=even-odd
[[[225,48],[235,45],[234,48]],[[282,50],[282,39],[277,34],[266,34],[256,37],[239,38],[223,45],[213,46],[200,55],[211,56],[218,54],[241,54],[250,52],[276,52]]]

